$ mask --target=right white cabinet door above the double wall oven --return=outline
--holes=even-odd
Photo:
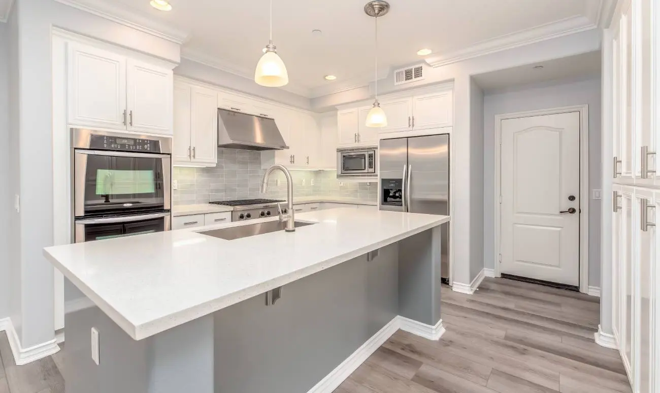
[[[172,70],[127,62],[129,131],[172,134]]]

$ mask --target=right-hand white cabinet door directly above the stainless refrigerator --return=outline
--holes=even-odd
[[[451,91],[413,97],[413,129],[451,127],[452,120],[453,94]]]

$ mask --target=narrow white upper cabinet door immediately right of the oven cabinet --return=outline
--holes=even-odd
[[[191,86],[174,84],[174,135],[172,158],[174,164],[186,164],[192,158],[190,144]]]

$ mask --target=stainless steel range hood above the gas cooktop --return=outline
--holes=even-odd
[[[218,147],[240,150],[288,149],[275,120],[218,109]]]

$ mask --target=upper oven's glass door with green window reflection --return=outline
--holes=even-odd
[[[78,150],[75,216],[170,209],[170,156]]]

